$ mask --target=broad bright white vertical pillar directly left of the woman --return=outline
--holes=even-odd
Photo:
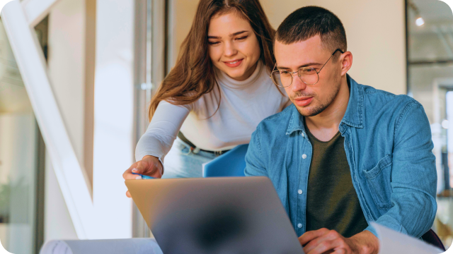
[[[132,237],[122,173],[134,153],[134,1],[98,0],[93,202],[102,238]],[[114,223],[112,223],[114,222]]]

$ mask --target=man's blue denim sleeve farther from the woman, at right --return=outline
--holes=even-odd
[[[390,229],[414,236],[425,234],[434,222],[437,173],[428,117],[418,102],[408,104],[398,118],[392,154],[393,207],[377,219]],[[372,226],[367,230],[374,235]]]

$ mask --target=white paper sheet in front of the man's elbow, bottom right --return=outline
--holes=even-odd
[[[417,238],[394,231],[372,222],[371,225],[376,229],[379,236],[379,254],[401,254],[401,253],[444,253],[443,250],[425,243]]]

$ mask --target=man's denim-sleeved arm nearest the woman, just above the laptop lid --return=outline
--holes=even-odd
[[[260,126],[252,133],[250,144],[246,153],[246,176],[268,176],[268,172],[264,166],[264,160],[261,150],[259,134]]]

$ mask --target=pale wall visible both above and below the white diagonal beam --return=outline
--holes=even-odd
[[[84,160],[84,3],[84,0],[60,0],[49,15],[48,37],[52,91],[79,162]],[[44,240],[76,239],[50,157],[45,162]]]

